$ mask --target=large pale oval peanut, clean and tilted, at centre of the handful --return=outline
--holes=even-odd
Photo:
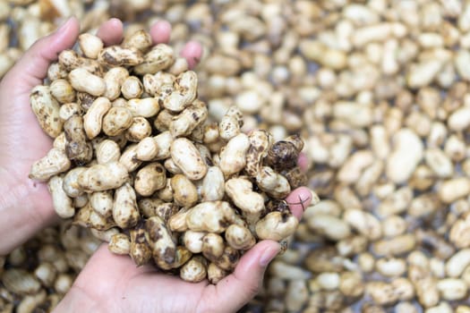
[[[170,154],[175,165],[181,168],[192,181],[200,180],[208,171],[208,166],[202,160],[201,153],[190,140],[178,138],[173,141]]]

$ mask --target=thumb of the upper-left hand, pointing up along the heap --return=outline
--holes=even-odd
[[[73,47],[79,31],[79,22],[71,17],[54,33],[36,41],[4,76],[4,83],[10,85],[5,90],[14,90],[19,95],[29,93],[31,88],[42,83],[49,64],[56,61],[61,51]]]

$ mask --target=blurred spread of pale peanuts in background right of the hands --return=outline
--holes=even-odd
[[[12,10],[50,22],[38,3]],[[109,16],[128,33],[170,21],[173,47],[203,44],[209,118],[237,106],[242,131],[305,142],[323,200],[242,311],[470,311],[468,2],[121,2],[131,15],[119,3],[76,12],[85,30]]]

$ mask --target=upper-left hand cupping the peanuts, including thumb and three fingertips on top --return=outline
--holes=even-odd
[[[169,40],[171,26],[157,22],[150,30],[153,41]],[[28,178],[30,166],[44,157],[52,140],[38,125],[30,108],[30,91],[47,76],[49,63],[64,49],[73,47],[79,24],[71,18],[55,33],[38,40],[0,83],[0,255],[28,240],[56,219],[47,184]],[[111,19],[99,28],[106,45],[123,38],[123,23]],[[193,67],[201,58],[201,45],[186,44],[182,56]]]

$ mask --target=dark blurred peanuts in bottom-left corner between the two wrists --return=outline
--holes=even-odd
[[[89,230],[64,221],[1,257],[1,311],[54,309],[100,243]]]

